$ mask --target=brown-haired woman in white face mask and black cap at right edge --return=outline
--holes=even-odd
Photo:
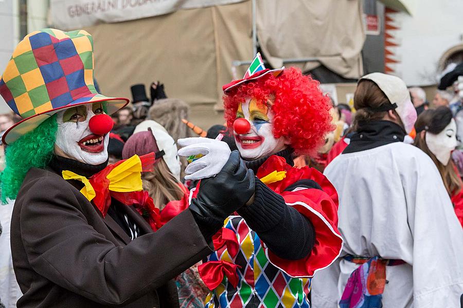
[[[414,145],[423,150],[436,164],[455,214],[463,226],[463,190],[458,171],[450,159],[457,146],[456,123],[448,107],[423,111],[415,123],[417,136]]]

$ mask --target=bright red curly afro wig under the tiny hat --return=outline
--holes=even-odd
[[[297,155],[315,155],[325,143],[325,136],[334,129],[331,124],[330,99],[318,88],[319,82],[290,67],[280,75],[266,74],[257,80],[230,89],[223,97],[225,119],[233,127],[238,104],[246,98],[266,102],[275,95],[271,107],[275,115],[275,138],[286,137]]]

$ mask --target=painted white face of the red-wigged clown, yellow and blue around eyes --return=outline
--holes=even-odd
[[[251,124],[247,133],[235,132],[236,145],[245,160],[270,156],[286,147],[284,138],[273,136],[274,115],[265,104],[258,104],[255,99],[246,99],[238,105],[237,118],[244,118]]]

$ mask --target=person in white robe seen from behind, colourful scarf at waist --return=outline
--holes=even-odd
[[[343,252],[314,277],[313,307],[458,307],[463,230],[433,161],[403,142],[416,121],[405,83],[368,74],[354,107],[356,133],[325,169]]]

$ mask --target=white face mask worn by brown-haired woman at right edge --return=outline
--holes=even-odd
[[[444,166],[447,166],[449,163],[450,155],[457,144],[456,123],[453,119],[450,121],[449,125],[438,134],[426,131],[426,145],[431,153],[433,153],[437,160]]]

